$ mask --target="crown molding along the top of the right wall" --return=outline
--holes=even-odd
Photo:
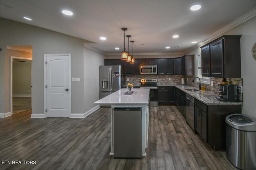
[[[216,39],[217,37],[221,36],[226,31],[236,27],[237,25],[240,25],[241,23],[243,23],[243,22],[253,18],[254,16],[256,16],[256,8],[253,8],[252,10],[247,12],[246,14],[240,16],[239,18],[237,18],[236,20],[232,21],[228,25],[222,27],[221,29],[219,29],[218,31],[216,31],[215,33],[210,35],[209,37],[203,39],[202,41],[200,41],[199,43],[197,43],[196,45],[194,45],[193,47],[188,49],[185,53],[187,54],[190,51],[192,51],[192,50],[194,50],[194,49],[196,49],[198,47],[201,47],[202,45],[206,44],[207,42],[213,41],[214,39]]]

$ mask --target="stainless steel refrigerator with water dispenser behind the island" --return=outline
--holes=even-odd
[[[100,66],[100,99],[125,85],[124,66]]]

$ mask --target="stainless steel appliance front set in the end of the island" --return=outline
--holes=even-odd
[[[142,108],[114,108],[114,157],[142,158]]]

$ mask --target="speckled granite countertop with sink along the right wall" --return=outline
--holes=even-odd
[[[199,90],[197,92],[190,92],[188,90],[185,90],[185,88],[194,88],[198,90],[198,88],[194,86],[175,85],[175,87],[207,105],[242,105],[243,104],[242,102],[221,102],[216,99],[217,97],[216,94],[207,92],[207,91]]]

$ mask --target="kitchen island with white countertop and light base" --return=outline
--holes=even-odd
[[[133,94],[125,94],[127,89],[120,89],[96,102],[99,105],[111,105],[111,150],[114,155],[114,108],[115,107],[141,107],[142,109],[142,156],[146,156],[148,146],[148,121],[149,121],[149,91],[150,89],[132,89]]]

